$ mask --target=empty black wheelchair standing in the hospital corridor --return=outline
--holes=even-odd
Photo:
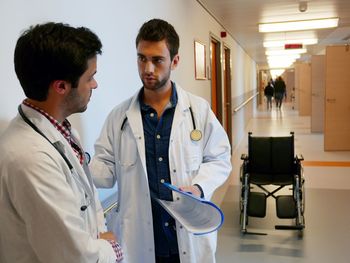
[[[294,156],[294,132],[283,137],[259,137],[249,132],[248,154],[242,154],[241,160],[241,233],[265,235],[247,230],[248,217],[265,217],[267,198],[273,197],[277,217],[295,220],[295,224],[276,225],[275,229],[299,230],[302,234],[305,228],[305,180],[301,162],[304,158]],[[289,194],[277,195],[286,186],[289,186]]]

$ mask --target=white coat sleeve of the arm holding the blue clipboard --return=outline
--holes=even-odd
[[[200,114],[198,117],[200,127],[203,127],[203,156],[198,174],[192,180],[192,184],[199,184],[204,197],[210,199],[214,191],[230,175],[231,147],[224,128],[209,105],[202,102],[202,106],[204,109],[197,108],[196,112]]]

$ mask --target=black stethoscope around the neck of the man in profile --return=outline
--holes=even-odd
[[[71,162],[68,160],[67,156],[62,152],[61,148],[58,146],[58,144],[56,143],[52,143],[49,138],[46,137],[46,135],[37,127],[35,126],[35,124],[24,114],[21,105],[18,106],[18,113],[19,115],[21,115],[22,119],[37,133],[39,133],[42,137],[44,137],[55,149],[56,151],[62,156],[63,160],[66,162],[67,166],[69,167],[69,170],[71,171],[72,174],[73,173],[73,165],[71,164]],[[88,153],[85,153],[86,156],[86,161],[87,163],[90,161],[90,155]],[[83,184],[80,182],[80,180],[78,180],[78,182],[83,186]],[[84,187],[84,186],[83,186]],[[88,206],[91,204],[91,198],[89,198],[89,196],[86,194],[85,192],[85,198],[87,199],[86,204],[82,205],[80,207],[81,211],[85,211]]]

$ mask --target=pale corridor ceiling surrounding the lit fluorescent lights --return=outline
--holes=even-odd
[[[260,68],[267,68],[266,40],[317,37],[318,43],[307,46],[307,54],[323,54],[327,45],[350,44],[350,0],[303,0],[307,10],[299,11],[299,0],[198,0],[226,29]],[[337,28],[312,31],[259,33],[258,24],[339,17]]]

